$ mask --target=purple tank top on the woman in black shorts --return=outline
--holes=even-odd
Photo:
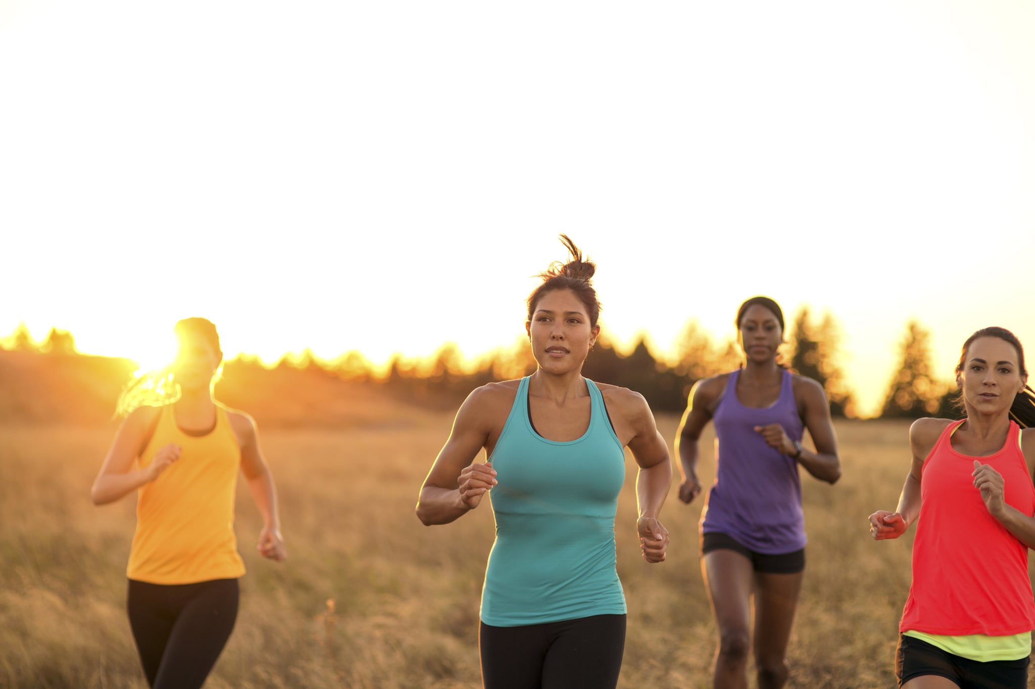
[[[703,534],[723,533],[765,555],[805,547],[798,462],[766,445],[755,426],[778,423],[791,440],[801,440],[804,426],[783,371],[779,398],[772,407],[744,407],[737,399],[740,371],[730,373],[715,410],[715,483],[701,513]]]

